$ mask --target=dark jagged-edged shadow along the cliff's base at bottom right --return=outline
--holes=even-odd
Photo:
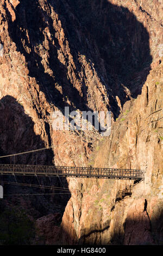
[[[99,223],[83,228],[79,239],[76,232],[62,230],[62,241],[64,245],[163,245],[163,205],[158,204],[158,210],[151,218],[148,212],[140,212],[137,217],[126,218],[124,224],[118,220],[111,220],[98,228]],[[93,220],[95,223],[95,220]],[[116,223],[117,222],[117,223]],[[73,235],[72,235],[73,234]]]

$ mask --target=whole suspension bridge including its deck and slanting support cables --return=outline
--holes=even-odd
[[[57,176],[59,177],[72,177],[72,178],[97,178],[97,179],[123,179],[123,180],[135,180],[135,181],[144,181],[145,180],[145,171],[140,169],[122,169],[122,168],[96,168],[96,167],[67,167],[67,166],[41,166],[37,164],[15,164],[15,156],[32,153],[32,162],[34,162],[34,152],[36,152],[36,163],[37,163],[37,151],[45,150],[53,148],[42,148],[36,150],[30,150],[23,153],[12,154],[12,155],[5,155],[0,156],[1,158],[10,157],[10,164],[0,164],[0,175],[7,176],[7,175],[16,175],[18,176]],[[11,164],[11,157],[14,157],[14,163]],[[16,180],[16,178],[15,178]],[[38,178],[37,178],[38,180]],[[39,181],[39,180],[38,180]],[[68,188],[60,188],[54,186],[43,186],[39,185],[32,185],[32,184],[23,184],[11,181],[0,181],[3,184],[10,184],[12,185],[20,185],[20,186],[33,186],[39,188],[48,188],[51,190],[60,190],[65,191],[66,193],[61,194],[70,194]],[[131,188],[129,187],[127,192],[126,190],[121,191],[121,197],[125,196],[126,193],[131,194]],[[47,193],[46,193],[47,194]],[[55,194],[55,193],[48,193],[48,194]],[[60,194],[60,193],[57,193]],[[7,194],[5,196],[27,196],[28,194]],[[40,194],[29,194],[29,195],[40,195]],[[28,195],[28,196],[29,196]],[[3,198],[3,187],[0,186],[0,198]]]

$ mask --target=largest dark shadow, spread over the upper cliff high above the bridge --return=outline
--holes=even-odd
[[[92,72],[94,65],[104,84],[109,97],[108,109],[116,118],[120,113],[116,96],[122,106],[130,99],[130,94],[137,97],[149,73],[152,57],[146,28],[127,8],[107,0],[48,0],[43,8],[41,4],[38,0],[22,0],[16,7],[14,22],[6,8],[9,34],[17,50],[26,57],[29,76],[36,78],[47,100],[62,113],[65,106],[70,106],[71,111],[76,108],[95,111],[87,106],[87,76],[79,60],[79,55],[84,56]],[[54,11],[58,15],[57,22],[61,21],[76,66],[73,75],[67,57],[65,64],[59,60],[58,52],[62,49],[56,35]],[[52,38],[46,32],[47,26]],[[47,63],[43,64],[47,49]],[[93,90],[98,82],[92,79]],[[82,93],[77,89],[77,81],[82,84]],[[67,103],[67,98],[71,103]]]

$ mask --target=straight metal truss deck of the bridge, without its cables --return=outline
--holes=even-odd
[[[143,180],[144,171],[136,169],[32,166],[22,164],[0,164],[1,175],[40,175],[100,179]]]

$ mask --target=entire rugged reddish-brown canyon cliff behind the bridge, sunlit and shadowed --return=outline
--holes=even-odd
[[[39,164],[146,170],[140,184],[67,179],[61,228],[58,215],[36,215],[46,244],[163,242],[162,8],[160,0],[0,3],[1,155],[53,145]],[[111,111],[111,135],[54,131],[53,112],[65,106]],[[131,197],[117,198],[128,185]]]

